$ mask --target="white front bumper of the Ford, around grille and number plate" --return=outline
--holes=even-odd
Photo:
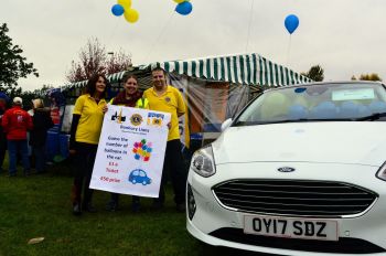
[[[384,221],[386,183],[375,178],[376,167],[296,163],[292,164],[297,168],[297,172],[293,173],[270,171],[283,164],[268,162],[222,164],[216,167],[217,173],[211,178],[203,178],[190,171],[187,183],[192,189],[196,209],[193,218],[187,217],[189,232],[211,245],[280,255],[357,255],[367,249],[372,255],[386,255],[386,222]],[[225,209],[214,196],[212,189],[228,180],[267,178],[345,182],[372,190],[378,198],[371,209],[354,217],[326,218],[339,223],[339,242],[319,243],[308,239],[246,235],[243,232],[244,216],[250,213]],[[297,246],[297,244],[300,245]]]

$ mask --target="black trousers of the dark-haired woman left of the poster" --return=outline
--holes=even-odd
[[[82,204],[83,207],[87,207],[87,205],[92,202],[94,190],[89,189],[89,182],[92,180],[97,149],[97,145],[76,142],[76,153],[74,158],[76,170],[73,186],[73,204]]]

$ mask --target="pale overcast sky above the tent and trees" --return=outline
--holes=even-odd
[[[131,24],[111,14],[112,0],[1,0],[0,23],[40,73],[19,81],[24,90],[64,85],[71,62],[93,36],[109,52],[130,53],[135,65],[254,52],[297,72],[320,64],[325,81],[363,73],[386,79],[385,0],[191,2],[193,12],[182,17],[173,0],[132,0],[140,18]],[[288,14],[300,20],[291,40]]]

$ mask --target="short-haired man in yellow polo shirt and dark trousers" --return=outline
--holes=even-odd
[[[163,207],[167,170],[170,170],[176,210],[179,212],[185,212],[186,172],[182,160],[179,131],[179,117],[185,114],[185,103],[180,90],[167,84],[167,73],[164,70],[157,67],[152,70],[151,75],[153,87],[143,93],[143,97],[149,100],[149,109],[171,114],[160,194],[154,200],[153,207]]]

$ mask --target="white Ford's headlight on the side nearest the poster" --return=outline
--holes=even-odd
[[[202,177],[211,177],[216,173],[214,166],[212,146],[208,145],[194,152],[192,157],[191,168]]]

